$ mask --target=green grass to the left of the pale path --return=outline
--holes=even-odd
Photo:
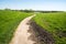
[[[0,11],[0,44],[9,44],[18,24],[31,13]]]

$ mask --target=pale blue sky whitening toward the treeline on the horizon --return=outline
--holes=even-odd
[[[0,0],[0,9],[66,11],[66,0]]]

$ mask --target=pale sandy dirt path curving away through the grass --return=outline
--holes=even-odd
[[[29,21],[33,16],[34,15],[31,15],[31,16],[25,18],[24,20],[22,20],[22,22],[18,26],[16,32],[14,33],[14,36],[13,36],[12,41],[10,42],[10,44],[34,44],[35,43],[35,41],[30,40],[31,38],[30,35],[32,33],[29,33],[30,25],[28,24]]]

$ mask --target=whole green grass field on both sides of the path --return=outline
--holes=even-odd
[[[9,44],[19,23],[32,13],[0,10],[0,44]],[[55,44],[66,44],[66,12],[36,13],[32,19],[52,33]]]

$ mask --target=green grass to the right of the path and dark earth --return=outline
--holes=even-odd
[[[38,13],[33,20],[53,34],[55,44],[66,44],[66,13]]]

